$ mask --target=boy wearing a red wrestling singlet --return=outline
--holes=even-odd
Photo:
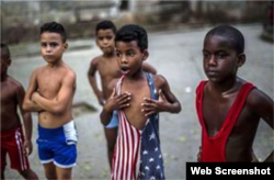
[[[229,25],[214,27],[205,36],[203,55],[208,80],[196,89],[202,126],[198,160],[253,161],[260,119],[274,128],[274,102],[237,76],[246,61],[244,37]],[[274,161],[274,151],[265,161]]]

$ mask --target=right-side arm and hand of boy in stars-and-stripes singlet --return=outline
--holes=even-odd
[[[144,106],[141,111],[145,112],[145,115],[147,116],[156,112],[179,113],[181,111],[181,103],[171,92],[165,78],[160,75],[156,75],[155,83],[159,89],[159,100],[152,100],[150,98],[144,99],[145,102],[141,104]]]

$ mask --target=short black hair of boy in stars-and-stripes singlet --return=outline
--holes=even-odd
[[[144,27],[136,24],[122,26],[115,36],[115,42],[132,42],[137,41],[140,52],[148,48],[148,35]]]

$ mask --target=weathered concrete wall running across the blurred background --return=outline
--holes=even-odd
[[[48,21],[62,23],[70,38],[93,34],[94,25],[111,19],[125,23],[173,26],[180,23],[260,22],[270,0],[0,0],[0,42],[37,40]]]

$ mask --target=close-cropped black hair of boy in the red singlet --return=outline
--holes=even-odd
[[[244,37],[242,33],[231,25],[218,25],[207,32],[205,40],[208,36],[219,35],[227,37],[229,43],[236,49],[237,54],[242,54],[244,52]]]

